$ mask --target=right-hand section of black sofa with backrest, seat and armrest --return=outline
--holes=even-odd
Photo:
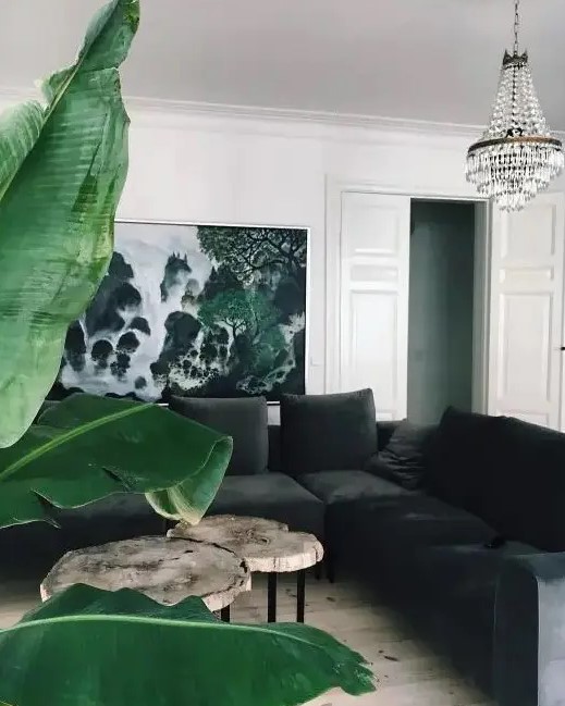
[[[564,434],[450,409],[423,488],[332,516],[342,556],[499,706],[565,704],[564,469]]]

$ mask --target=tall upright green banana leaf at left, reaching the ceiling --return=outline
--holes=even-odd
[[[118,66],[138,21],[139,0],[112,0],[76,63],[45,80],[48,106],[0,119],[0,447],[35,418],[112,255],[127,173]]]

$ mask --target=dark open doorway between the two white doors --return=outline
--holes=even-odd
[[[476,203],[412,199],[408,419],[474,406]]]

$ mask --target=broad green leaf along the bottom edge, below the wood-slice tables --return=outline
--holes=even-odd
[[[300,624],[217,620],[199,598],[72,586],[0,632],[0,698],[19,706],[294,706],[373,691],[363,657]]]

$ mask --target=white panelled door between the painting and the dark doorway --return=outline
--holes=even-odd
[[[406,417],[410,199],[341,193],[333,388],[371,387],[377,419]]]

